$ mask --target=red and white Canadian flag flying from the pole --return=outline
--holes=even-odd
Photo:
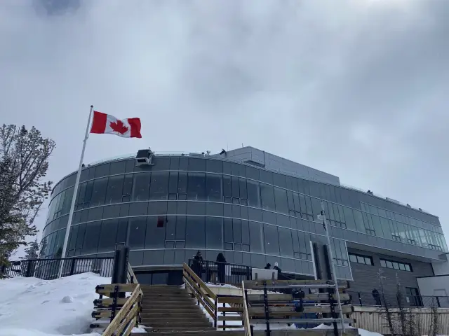
[[[140,118],[119,120],[110,114],[93,111],[91,133],[115,134],[123,138],[141,138]]]

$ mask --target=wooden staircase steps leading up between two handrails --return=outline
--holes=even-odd
[[[142,325],[157,335],[213,335],[216,330],[196,300],[179,286],[143,286]],[[148,334],[133,334],[148,335]]]

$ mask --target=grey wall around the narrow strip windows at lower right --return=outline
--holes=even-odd
[[[434,272],[430,263],[420,262],[404,258],[391,257],[389,255],[382,255],[377,253],[370,253],[366,251],[348,248],[349,253],[359,255],[367,255],[373,258],[374,266],[362,265],[356,262],[351,262],[352,276],[354,282],[351,282],[350,290],[353,292],[371,293],[374,288],[379,290],[379,276],[377,272],[380,268],[384,271],[384,290],[386,294],[396,294],[396,273],[398,279],[401,281],[403,287],[419,288],[417,277],[419,276],[433,276]],[[380,266],[380,258],[393,260],[398,262],[408,262],[412,265],[413,272],[406,272],[397,269],[389,269]]]

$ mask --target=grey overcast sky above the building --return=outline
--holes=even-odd
[[[53,181],[93,104],[140,117],[142,139],[92,134],[86,163],[254,146],[448,235],[448,18],[448,0],[1,0],[0,122],[56,141]]]

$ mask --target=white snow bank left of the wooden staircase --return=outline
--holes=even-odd
[[[110,278],[83,273],[56,280],[15,277],[0,281],[0,336],[89,333],[95,286]]]

